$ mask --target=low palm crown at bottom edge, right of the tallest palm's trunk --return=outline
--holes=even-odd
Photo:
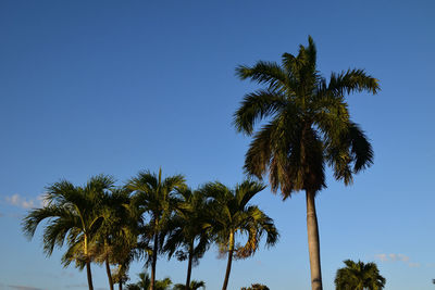
[[[339,268],[335,276],[335,289],[337,290],[381,290],[385,287],[385,278],[380,275],[375,263],[364,264],[361,261],[355,263],[351,260],[344,261],[346,267]]]

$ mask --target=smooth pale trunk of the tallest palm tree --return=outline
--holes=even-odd
[[[320,266],[320,242],[318,216],[315,214],[314,191],[307,190],[307,231],[308,252],[310,254],[311,289],[322,290],[322,272]]]

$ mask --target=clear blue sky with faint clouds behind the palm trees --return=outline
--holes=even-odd
[[[330,175],[316,199],[324,289],[346,259],[376,262],[385,289],[434,289],[434,13],[432,0],[0,1],[0,289],[86,289],[85,272],[62,268],[63,250],[46,259],[41,231],[32,242],[21,232],[51,182],[104,173],[121,185],[160,166],[194,188],[241,181],[249,138],[232,114],[258,87],[234,68],[279,61],[308,35],[325,76],[365,68],[382,87],[348,98],[374,165],[351,187]],[[303,194],[282,202],[268,188],[253,203],[281,240],[236,261],[228,289],[309,289]],[[157,276],[183,282],[186,266],[162,257]],[[215,290],[224,270],[212,248],[192,278]]]

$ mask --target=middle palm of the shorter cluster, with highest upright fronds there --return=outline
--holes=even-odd
[[[162,244],[166,232],[166,220],[173,215],[173,209],[177,203],[177,189],[185,187],[185,178],[174,175],[162,180],[162,171],[159,174],[140,172],[132,178],[126,188],[135,192],[134,202],[149,216],[149,223],[141,232],[146,243],[151,241],[152,251],[149,256],[151,264],[151,290],[156,290],[156,264],[158,253],[162,251]]]

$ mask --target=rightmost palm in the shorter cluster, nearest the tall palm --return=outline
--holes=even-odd
[[[233,256],[246,259],[256,253],[263,234],[268,235],[266,245],[274,245],[278,232],[272,218],[258,206],[248,205],[248,202],[265,188],[260,182],[245,180],[236,185],[234,190],[221,182],[208,184],[203,191],[209,197],[210,211],[213,211],[213,234],[222,254],[228,254],[225,279],[222,290],[228,286]],[[247,235],[244,247],[236,247],[236,235]]]

